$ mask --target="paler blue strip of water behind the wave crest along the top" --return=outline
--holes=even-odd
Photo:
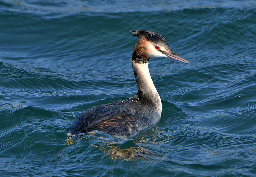
[[[101,4],[101,6],[99,6]],[[2,11],[14,11],[56,18],[78,13],[154,12],[198,8],[255,8],[254,1],[2,1]]]

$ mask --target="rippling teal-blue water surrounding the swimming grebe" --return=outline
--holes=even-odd
[[[2,0],[0,19],[2,176],[256,176],[255,1]],[[137,29],[190,62],[150,59],[160,122],[65,144],[81,112],[136,93]]]

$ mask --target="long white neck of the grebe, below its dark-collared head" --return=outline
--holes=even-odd
[[[156,109],[162,110],[161,98],[156,90],[146,63],[136,63],[132,60],[132,68],[138,86],[138,94],[152,102]]]

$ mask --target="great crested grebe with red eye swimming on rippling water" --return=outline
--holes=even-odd
[[[87,109],[68,127],[68,136],[99,130],[127,139],[160,120],[161,98],[150,76],[148,60],[151,57],[168,57],[184,63],[189,62],[174,53],[161,35],[144,30],[131,32],[139,38],[132,52],[132,68],[138,93],[123,101]]]

